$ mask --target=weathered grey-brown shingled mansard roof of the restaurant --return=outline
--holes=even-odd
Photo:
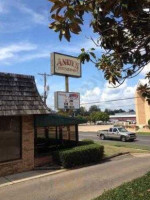
[[[48,113],[33,76],[0,73],[0,116]]]

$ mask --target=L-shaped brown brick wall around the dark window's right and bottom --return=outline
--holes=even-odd
[[[0,163],[0,176],[28,171],[34,168],[34,120],[33,116],[22,117],[22,158]]]

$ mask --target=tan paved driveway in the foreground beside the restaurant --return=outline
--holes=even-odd
[[[0,188],[2,200],[91,200],[150,168],[150,156],[125,156]]]

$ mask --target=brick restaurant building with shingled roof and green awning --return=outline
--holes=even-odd
[[[50,112],[33,76],[0,73],[0,176],[52,162],[51,142],[78,142],[79,123]]]

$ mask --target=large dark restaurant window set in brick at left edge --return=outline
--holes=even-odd
[[[0,117],[0,162],[21,158],[21,118]]]

